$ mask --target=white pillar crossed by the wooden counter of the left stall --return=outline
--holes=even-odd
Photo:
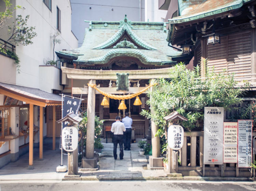
[[[14,135],[19,136],[19,107],[11,107],[10,109],[11,128]],[[11,161],[19,158],[19,139],[10,141]]]

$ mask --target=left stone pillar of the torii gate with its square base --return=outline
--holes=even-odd
[[[89,84],[96,84],[96,80],[90,80]],[[98,158],[94,156],[94,131],[95,131],[95,89],[88,87],[87,97],[87,134],[86,154],[82,159],[84,169],[95,169]]]

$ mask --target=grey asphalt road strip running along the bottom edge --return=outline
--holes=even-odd
[[[0,191],[245,191],[256,190],[253,181],[0,181]]]

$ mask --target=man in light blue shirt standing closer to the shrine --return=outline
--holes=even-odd
[[[124,150],[131,150],[131,125],[132,119],[129,117],[129,113],[125,113],[125,118],[122,119],[122,122],[125,125],[126,131],[124,132]]]

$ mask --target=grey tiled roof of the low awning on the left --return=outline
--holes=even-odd
[[[19,95],[26,96],[30,99],[43,101],[45,103],[47,102],[60,102],[61,103],[61,96],[56,95],[53,93],[48,93],[46,91],[43,91],[41,89],[37,88],[30,88],[25,86],[19,86],[14,84],[7,84],[0,82],[0,89],[4,89],[7,91],[11,91],[12,93],[16,93]]]

